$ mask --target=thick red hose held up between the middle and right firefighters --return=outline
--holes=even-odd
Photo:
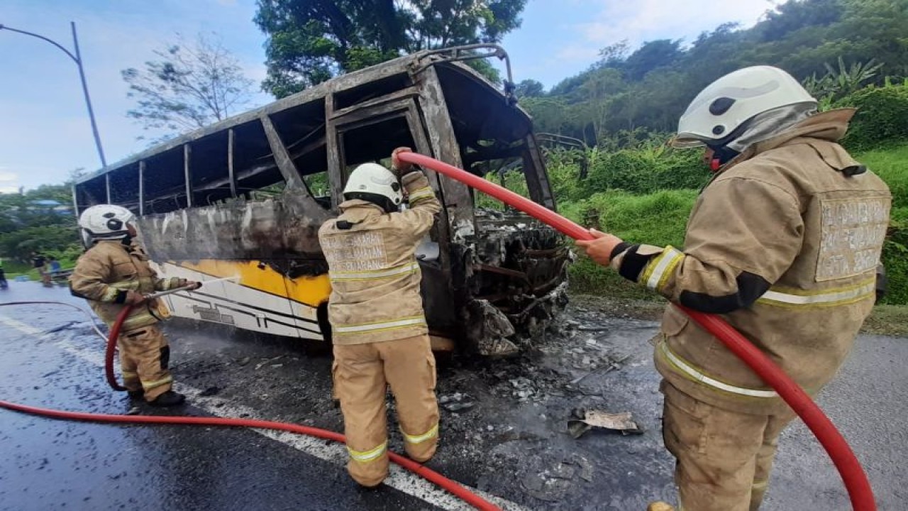
[[[469,174],[469,172],[456,166],[416,153],[400,153],[397,157],[400,161],[421,165],[439,174],[457,179],[465,185],[476,188],[555,227],[561,233],[574,239],[595,239],[593,235],[589,234],[587,229],[571,222],[568,218],[558,215],[528,198],[517,195],[507,188],[490,183],[477,175]],[[675,304],[675,306],[683,310],[687,316],[690,316],[697,325],[722,341],[735,356],[743,360],[747,366],[750,366],[758,376],[775,389],[775,392],[785,400],[788,406],[795,410],[797,415],[804,421],[804,424],[814,432],[814,436],[820,441],[829,457],[832,458],[835,467],[842,476],[844,486],[848,490],[848,496],[851,498],[854,510],[875,511],[876,501],[873,498],[873,489],[870,486],[870,481],[864,473],[864,467],[858,463],[851,447],[845,442],[844,437],[835,428],[829,417],[825,416],[823,410],[816,406],[810,396],[807,396],[804,389],[785,375],[782,369],[776,366],[762,351],[752,345],[745,336],[742,336],[719,316],[704,314],[680,304]]]

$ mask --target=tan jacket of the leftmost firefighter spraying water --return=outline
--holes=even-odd
[[[94,313],[108,326],[113,325],[123,310],[127,291],[147,295],[183,284],[181,278],[158,278],[148,260],[138,245],[99,241],[79,257],[69,279],[70,291],[87,299]],[[160,300],[145,302],[133,307],[123,322],[123,332],[154,325],[167,315]]]

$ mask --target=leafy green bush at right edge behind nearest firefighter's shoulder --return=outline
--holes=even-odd
[[[908,140],[908,83],[869,86],[844,97],[836,106],[857,107],[842,144],[865,151]]]

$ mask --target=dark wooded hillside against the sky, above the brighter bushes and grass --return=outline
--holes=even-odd
[[[521,82],[517,90],[538,132],[574,136],[601,148],[622,132],[674,130],[705,85],[747,65],[782,67],[804,80],[827,106],[866,85],[883,88],[887,77],[902,82],[908,76],[905,26],[908,0],[793,0],[744,30],[726,24],[694,41],[661,39],[637,49],[611,45],[587,71],[548,91],[534,80]],[[880,96],[895,91],[863,94],[873,97],[853,99],[875,119],[873,105],[888,103]],[[904,116],[884,108],[880,112],[894,120]],[[879,131],[891,129],[881,126]],[[854,135],[873,142],[861,131]]]

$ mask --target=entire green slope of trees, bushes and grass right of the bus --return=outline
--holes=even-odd
[[[709,175],[696,151],[666,140],[705,85],[746,65],[777,65],[803,80],[820,108],[856,107],[843,141],[893,192],[883,248],[889,304],[908,304],[908,0],[792,0],[752,28],[721,25],[680,40],[603,48],[600,60],[550,90],[518,84],[538,132],[591,147],[551,150],[562,212],[631,241],[680,245],[696,190]],[[581,178],[578,162],[587,162]],[[571,268],[579,292],[656,299],[585,258]]]

